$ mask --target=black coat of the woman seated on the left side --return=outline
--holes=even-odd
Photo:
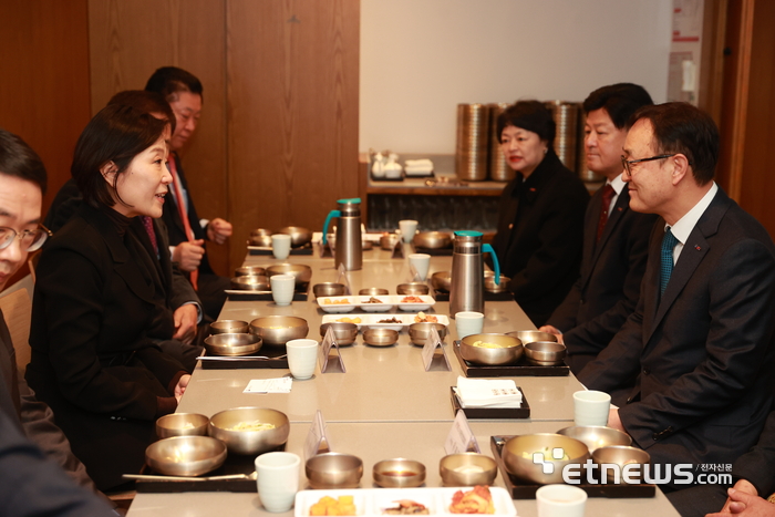
[[[153,263],[133,231],[121,237],[100,209],[81,206],[43,248],[32,306],[27,380],[46,402],[97,487],[136,472],[154,421],[176,406],[184,368],[158,349]],[[157,261],[156,261],[157,262]]]

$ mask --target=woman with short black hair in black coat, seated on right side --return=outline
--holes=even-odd
[[[517,174],[500,195],[493,248],[515,300],[540,327],[579,275],[589,194],[555,154],[555,121],[542,103],[509,106],[497,132]]]

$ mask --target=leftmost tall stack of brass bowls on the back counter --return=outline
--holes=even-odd
[[[484,104],[457,105],[455,174],[467,182],[487,178],[489,108]]]

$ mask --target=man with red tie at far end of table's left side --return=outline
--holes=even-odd
[[[178,156],[178,152],[194,134],[199,122],[202,83],[185,70],[164,66],[148,79],[145,90],[164,95],[177,117],[175,133],[169,143],[173,184],[169,186],[162,216],[167,225],[173,260],[189,275],[205,313],[217,320],[226,301],[224,291],[231,285],[228,278],[219,277],[213,271],[207,259],[205,239],[224,244],[231,236],[231,224],[219,217],[213,220],[199,219]]]

